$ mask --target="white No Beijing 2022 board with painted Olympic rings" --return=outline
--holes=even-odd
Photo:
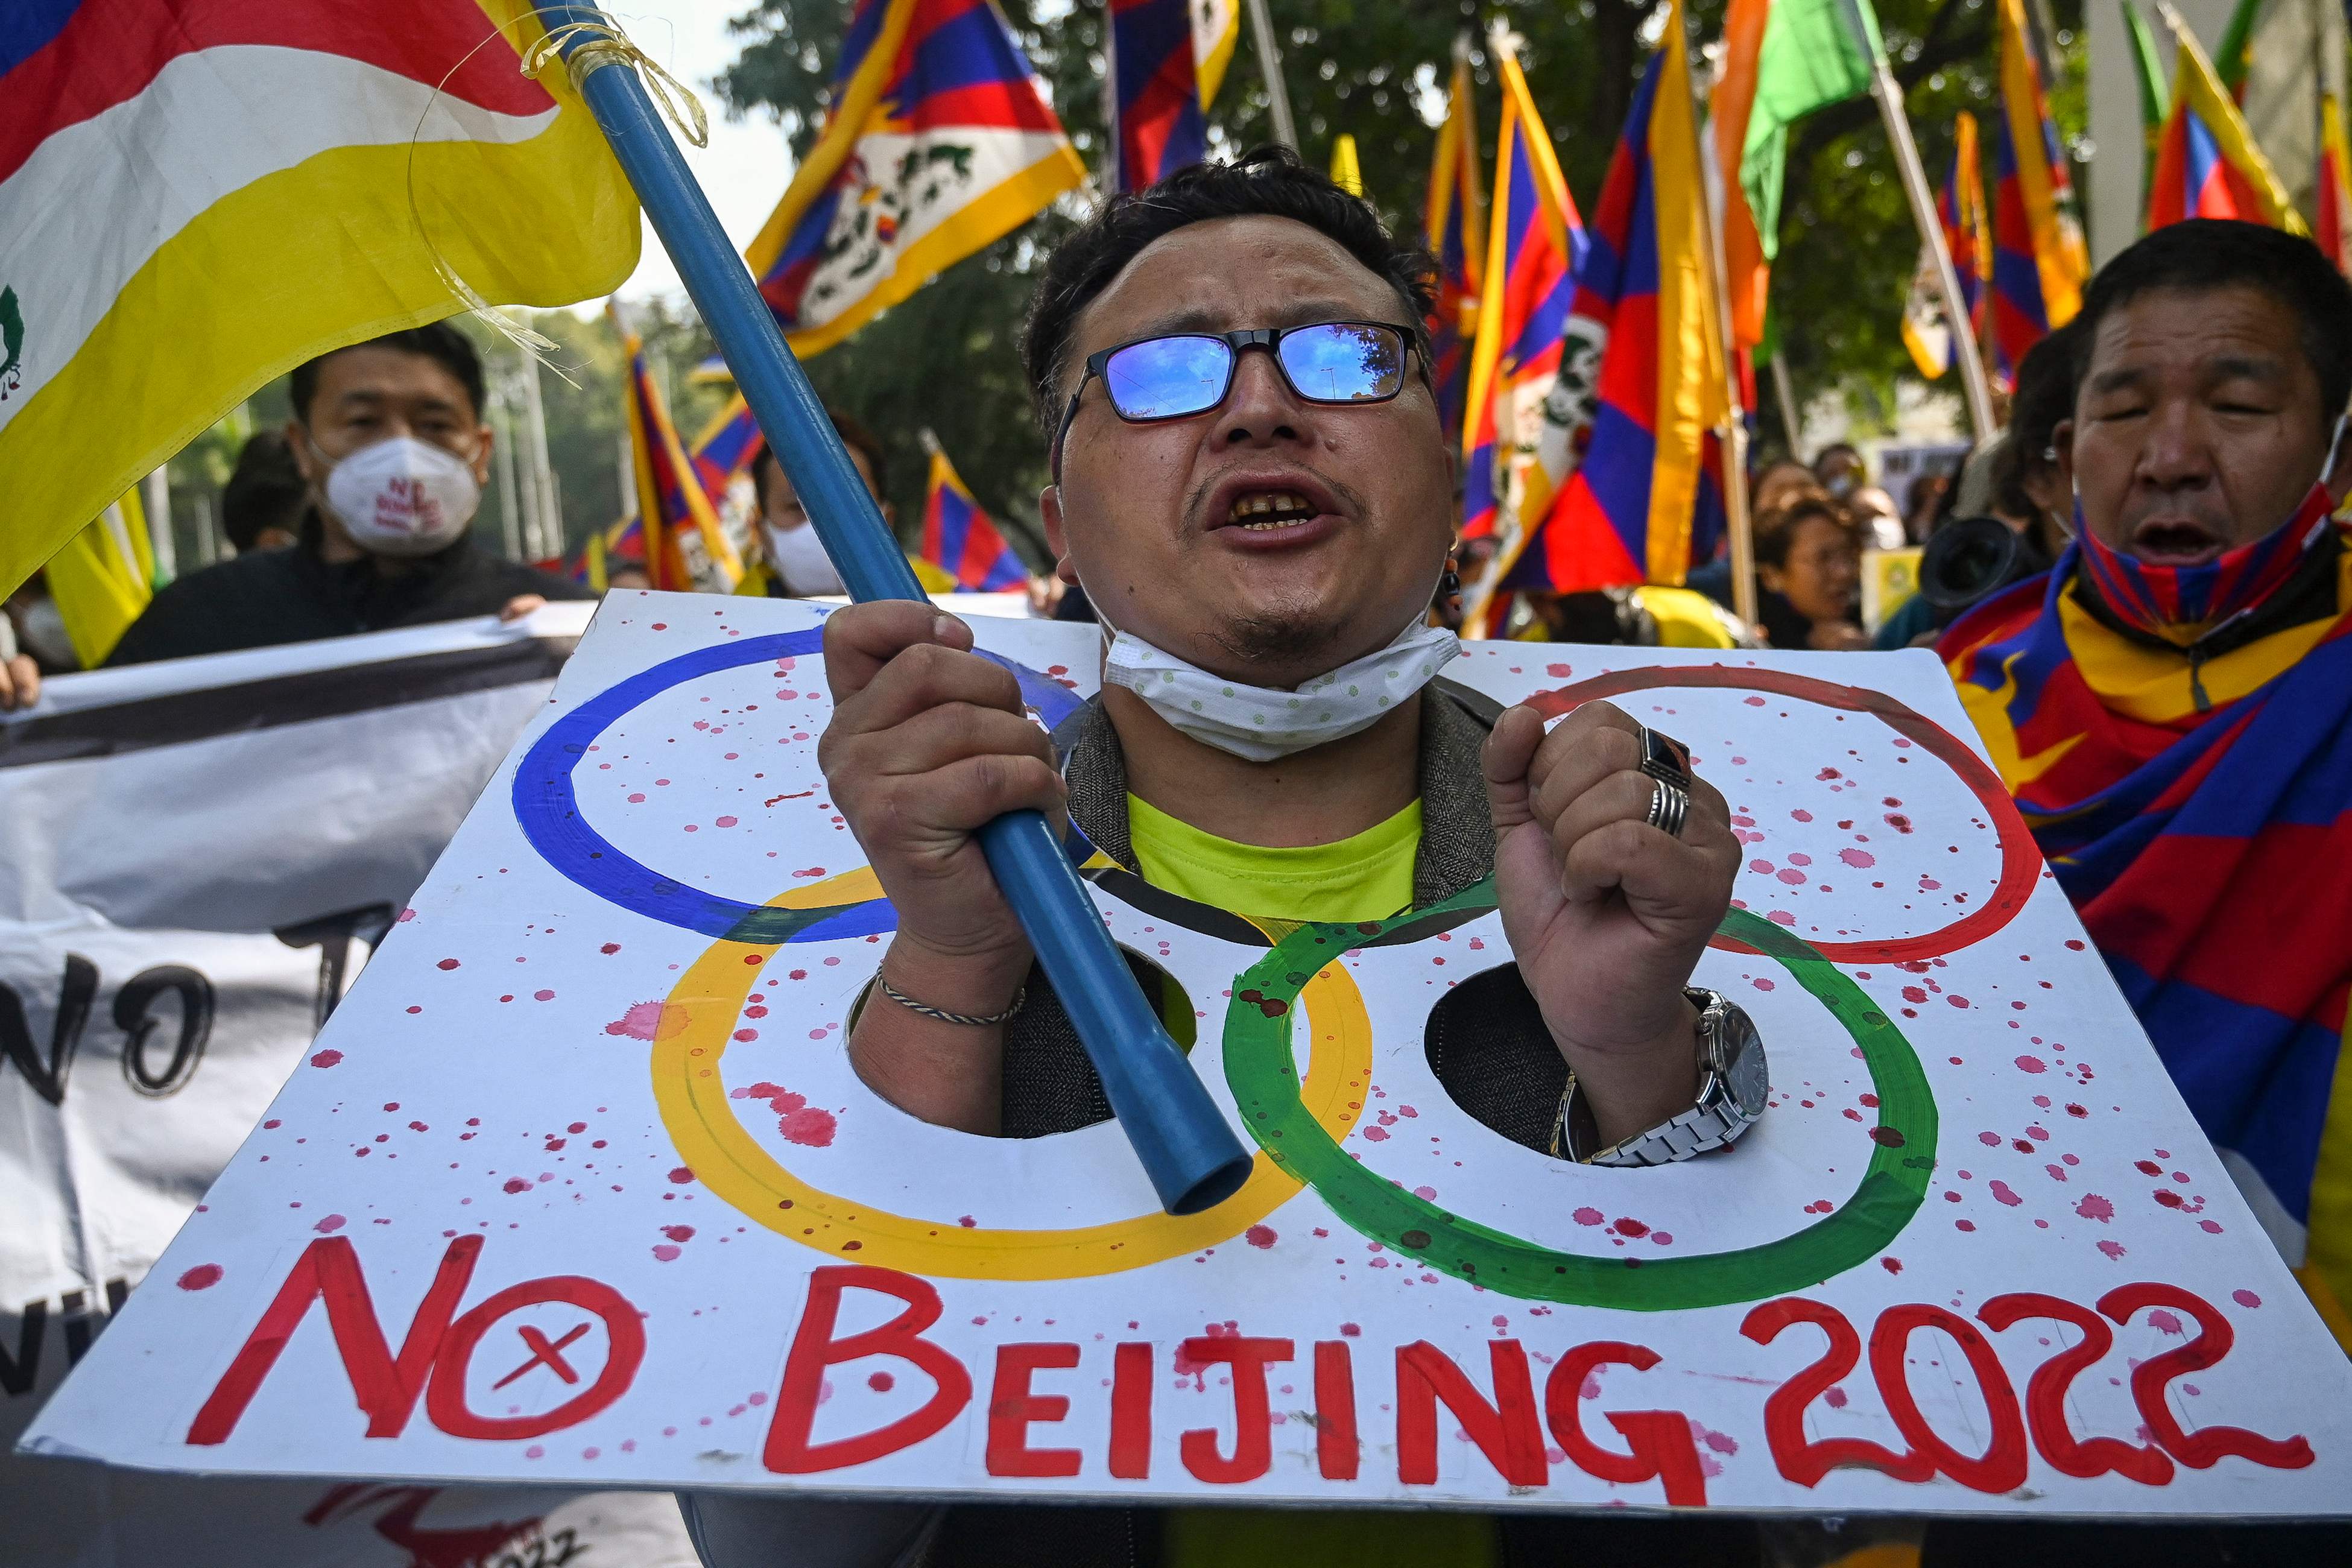
[[[1319,1507],[2352,1507],[2352,1368],[1926,654],[1475,644],[1472,705],[1686,741],[1748,863],[1698,980],[1771,1110],[1609,1171],[1454,1105],[1479,884],[1258,929],[1117,870],[1256,1143],[849,1067],[891,931],[816,762],[821,609],[607,599],[353,994],[28,1446],[202,1474]],[[1098,632],[983,621],[1047,726]],[[165,1284],[167,1281],[167,1284]]]

